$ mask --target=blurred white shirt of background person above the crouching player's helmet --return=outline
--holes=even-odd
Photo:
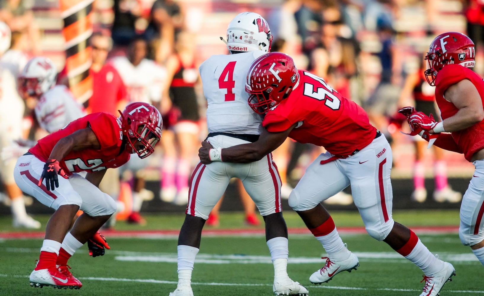
[[[150,59],[143,59],[137,66],[134,66],[126,57],[113,58],[110,63],[121,75],[130,103],[152,104],[161,101],[166,81],[165,67]]]

